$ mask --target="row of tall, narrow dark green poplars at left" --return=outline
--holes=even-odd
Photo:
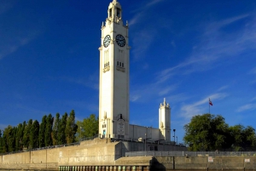
[[[55,118],[51,114],[44,115],[41,123],[30,119],[17,127],[9,125],[3,133],[0,130],[0,153],[73,143],[77,130],[74,111],[62,117],[56,113]]]

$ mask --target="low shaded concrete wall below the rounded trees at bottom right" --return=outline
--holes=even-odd
[[[256,157],[155,157],[154,167],[166,170],[254,170]],[[247,162],[246,162],[247,161]]]

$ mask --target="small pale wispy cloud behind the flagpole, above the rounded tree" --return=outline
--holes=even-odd
[[[222,100],[228,94],[218,93],[218,94],[211,94],[208,97],[211,98],[212,101],[214,100]],[[208,97],[203,98],[202,100],[195,101],[193,104],[183,105],[181,107],[181,116],[185,119],[190,119],[191,117],[205,113],[206,112],[206,105],[208,105]]]

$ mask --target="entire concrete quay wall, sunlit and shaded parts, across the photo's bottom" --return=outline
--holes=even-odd
[[[147,144],[147,150],[150,145]],[[158,145],[158,148],[172,149],[182,146]],[[110,139],[87,140],[80,145],[63,146],[40,151],[26,151],[0,156],[0,169],[48,169],[59,166],[115,166],[153,164],[154,170],[216,170],[216,169],[256,169],[256,157],[122,157],[125,151],[144,151],[143,143],[110,142]],[[176,149],[177,150],[177,149]]]

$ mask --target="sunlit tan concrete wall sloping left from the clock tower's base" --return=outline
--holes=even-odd
[[[87,140],[80,145],[26,151],[1,156],[0,168],[48,168],[59,165],[113,165],[121,157],[119,142],[110,139]]]

